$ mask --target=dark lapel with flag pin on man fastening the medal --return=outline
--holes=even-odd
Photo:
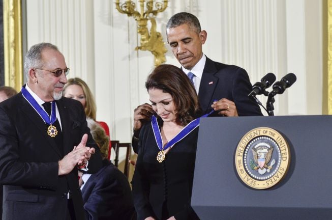
[[[207,109],[212,104],[212,96],[218,84],[219,78],[214,74],[217,72],[215,64],[212,60],[206,57],[206,62],[202,74],[201,83],[199,86],[198,99],[202,109]]]

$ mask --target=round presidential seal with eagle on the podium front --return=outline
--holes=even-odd
[[[276,185],[286,175],[290,150],[276,130],[259,127],[246,133],[235,152],[235,167],[240,179],[255,189]]]

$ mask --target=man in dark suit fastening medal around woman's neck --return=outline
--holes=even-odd
[[[182,70],[192,80],[203,113],[214,109],[212,116],[261,116],[260,107],[249,99],[252,90],[249,76],[243,68],[214,62],[202,51],[207,33],[201,30],[196,16],[181,12],[166,24],[167,42]],[[134,112],[133,148],[137,152],[139,130],[154,114],[145,103]]]

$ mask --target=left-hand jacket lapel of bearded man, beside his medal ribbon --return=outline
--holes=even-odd
[[[35,111],[35,109],[26,101],[26,99],[21,95],[22,99],[22,112],[27,116],[27,118],[30,120],[28,122],[29,124],[34,124],[39,132],[36,132],[36,135],[40,134],[43,136],[43,138],[46,139],[46,141],[49,143],[51,148],[60,156],[62,157],[62,153],[59,151],[59,148],[56,146],[55,142],[51,140],[47,134],[47,130],[45,127],[44,120],[38,115],[38,113]]]

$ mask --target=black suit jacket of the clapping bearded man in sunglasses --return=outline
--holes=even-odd
[[[63,133],[62,153],[47,126],[21,93],[0,103],[0,184],[4,185],[4,219],[65,219],[68,190],[77,219],[84,219],[83,201],[75,168],[58,176],[58,161],[77,146],[84,133],[87,146],[96,153],[89,171],[101,168],[101,155],[87,127],[80,102],[65,98],[56,101]]]

